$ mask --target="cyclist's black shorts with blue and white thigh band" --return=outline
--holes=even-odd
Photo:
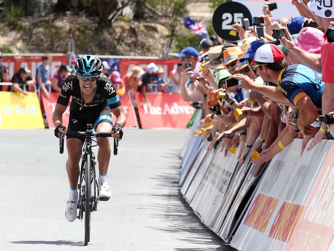
[[[98,124],[106,122],[113,126],[113,114],[108,104],[105,106],[85,106],[83,110],[70,110],[67,131],[84,132],[87,124],[92,124],[96,130]],[[84,143],[85,138],[66,136],[66,138],[78,138]]]

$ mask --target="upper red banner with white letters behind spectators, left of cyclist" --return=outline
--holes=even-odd
[[[67,56],[53,56],[50,63],[50,79],[55,71],[62,64],[67,64]],[[42,57],[4,57],[3,64],[6,67],[9,78],[11,79],[14,73],[21,67],[28,67],[31,70],[31,77],[36,76],[37,68],[42,64]]]

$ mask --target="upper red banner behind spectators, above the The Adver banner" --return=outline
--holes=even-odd
[[[177,63],[179,62],[179,59],[121,59],[119,61],[119,70],[121,73],[121,76],[124,76],[127,74],[131,69],[139,65],[142,69],[146,70],[147,65],[150,63],[155,63],[158,67],[162,67],[164,69],[164,75],[163,77],[166,79],[169,76],[169,73],[171,72],[174,67],[176,67]]]

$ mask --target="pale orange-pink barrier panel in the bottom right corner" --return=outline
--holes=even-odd
[[[334,250],[334,144],[303,208],[286,250]]]

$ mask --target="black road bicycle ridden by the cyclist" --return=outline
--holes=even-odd
[[[120,131],[121,137],[123,132]],[[87,246],[90,240],[90,224],[91,213],[98,210],[99,201],[107,201],[109,198],[99,196],[98,181],[96,179],[96,161],[92,147],[98,146],[95,137],[112,137],[111,133],[94,132],[92,124],[87,125],[85,132],[69,131],[66,133],[68,136],[79,136],[85,138],[85,142],[82,148],[81,155],[81,168],[80,178],[78,184],[79,190],[79,202],[78,202],[78,219],[85,222],[85,246]],[[60,153],[64,152],[64,134],[60,135],[59,147]],[[96,145],[95,145],[95,144]],[[94,145],[93,145],[94,144]],[[114,155],[118,153],[118,137],[114,138]]]

